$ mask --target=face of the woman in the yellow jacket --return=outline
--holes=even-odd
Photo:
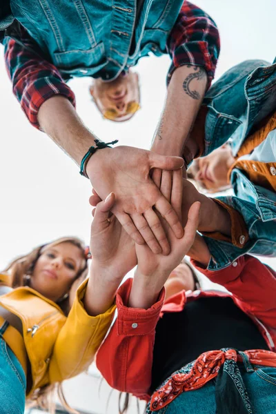
[[[83,266],[81,250],[70,242],[46,246],[39,256],[30,279],[30,287],[57,302],[69,292]]]

